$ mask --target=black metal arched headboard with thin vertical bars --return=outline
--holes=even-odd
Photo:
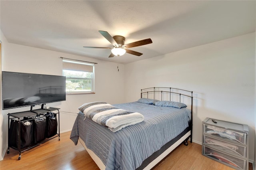
[[[181,102],[181,97],[189,97],[191,99],[191,123],[190,123],[190,127],[191,127],[191,135],[190,135],[190,142],[192,142],[192,125],[193,125],[193,91],[188,91],[188,90],[184,90],[184,89],[177,89],[177,88],[172,88],[172,87],[150,87],[150,88],[146,88],[146,89],[141,89],[141,93],[140,93],[140,98],[142,98],[142,96],[146,95],[148,98],[149,94],[153,94],[154,99],[156,94],[161,93],[161,101],[163,100],[163,95],[164,94],[168,94],[170,95],[170,101],[171,101],[171,96],[172,95],[179,95],[179,102]]]

